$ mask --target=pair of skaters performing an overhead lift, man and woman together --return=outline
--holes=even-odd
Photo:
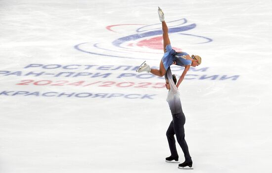
[[[168,144],[171,151],[171,156],[166,158],[166,162],[174,162],[179,163],[179,155],[177,152],[175,138],[174,135],[176,134],[176,138],[178,143],[181,146],[181,149],[184,153],[185,161],[179,164],[180,169],[192,169],[192,159],[189,154],[188,146],[185,141],[185,134],[184,134],[184,124],[185,124],[185,116],[182,112],[181,108],[181,100],[180,100],[180,93],[178,87],[180,86],[184,76],[186,75],[187,71],[190,69],[190,66],[196,67],[201,64],[201,57],[194,56],[191,57],[186,52],[176,52],[171,47],[170,39],[168,36],[168,27],[164,20],[164,13],[160,9],[158,9],[159,19],[162,22],[162,30],[163,30],[163,48],[164,48],[164,55],[162,57],[160,63],[160,69],[151,69],[145,62],[140,65],[140,67],[136,70],[137,72],[151,72],[157,76],[165,75],[166,80],[166,88],[169,90],[167,96],[167,102],[169,104],[173,120],[170,123],[170,126],[167,130],[166,136],[168,139]],[[177,82],[176,76],[172,75],[170,66],[172,64],[184,67],[184,70],[181,74],[180,79]],[[176,83],[177,82],[177,83]]]

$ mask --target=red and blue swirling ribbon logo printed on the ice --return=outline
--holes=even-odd
[[[183,33],[184,31],[189,31],[196,27],[194,23],[187,24],[186,19],[167,22],[167,24],[171,40],[178,39],[178,41],[182,40],[182,42],[185,41],[190,44],[203,44],[213,41],[211,38],[205,36]],[[158,57],[161,57],[163,54],[161,23],[153,25],[110,25],[107,26],[106,29],[111,33],[105,35],[100,41],[95,40],[80,43],[75,45],[75,49],[94,55],[144,60],[158,60]],[[109,38],[114,35],[122,35],[123,33],[134,34],[121,36],[113,40]],[[181,49],[177,47],[173,48],[177,51],[181,51]],[[143,57],[143,55],[145,57]]]

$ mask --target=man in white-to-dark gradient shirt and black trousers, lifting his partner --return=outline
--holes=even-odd
[[[176,76],[172,76],[172,72],[170,67],[167,69],[167,73],[165,74],[165,81],[166,81],[166,89],[169,90],[167,96],[167,102],[169,104],[173,120],[170,123],[170,126],[166,132],[166,136],[168,139],[169,148],[171,151],[171,156],[166,158],[166,162],[174,162],[179,163],[179,155],[176,148],[176,141],[174,135],[176,134],[178,143],[181,146],[181,149],[184,153],[185,161],[179,164],[179,169],[190,169],[192,170],[192,159],[189,154],[188,146],[185,141],[185,134],[184,134],[184,124],[185,124],[185,116],[182,111],[181,107],[181,99],[180,93],[178,88],[176,87]],[[175,161],[176,162],[175,162]],[[188,167],[187,167],[188,166]]]

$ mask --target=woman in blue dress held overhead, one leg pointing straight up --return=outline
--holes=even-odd
[[[150,69],[149,65],[147,65],[145,62],[136,70],[137,72],[151,72],[154,75],[157,76],[163,76],[166,73],[166,70],[172,65],[178,65],[182,66],[185,69],[183,70],[181,77],[177,83],[177,87],[180,86],[182,80],[184,79],[185,74],[190,69],[190,66],[196,67],[201,64],[201,57],[198,55],[192,55],[191,57],[186,52],[176,52],[174,49],[172,49],[170,39],[168,36],[168,27],[166,25],[166,22],[164,20],[164,13],[162,10],[158,9],[159,18],[162,22],[162,30],[163,30],[163,48],[164,48],[164,55],[162,57],[161,63],[160,63],[160,69]]]

